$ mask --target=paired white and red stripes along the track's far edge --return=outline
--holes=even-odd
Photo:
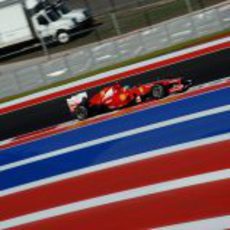
[[[153,69],[159,69],[162,67],[166,67],[168,65],[179,63],[181,61],[190,60],[196,57],[204,56],[206,54],[215,53],[224,49],[226,49],[225,53],[228,53],[227,48],[229,47],[230,47],[230,37],[226,37],[216,41],[208,42],[206,44],[194,46],[171,54],[149,59],[147,61],[142,61],[126,67],[97,74],[90,78],[71,82],[59,87],[51,88],[29,96],[15,99],[13,101],[2,103],[0,105],[0,114],[9,113],[42,102],[47,102],[69,94],[76,93],[81,90],[86,90],[86,89],[89,90],[90,88],[111,83],[112,81],[115,80],[122,80],[124,78],[129,78],[131,76],[152,71]],[[218,61],[215,61],[214,63],[216,64]],[[221,61],[221,64],[223,62],[224,60]],[[205,63],[204,65],[206,64],[207,63]],[[219,70],[218,72],[220,73],[221,71]],[[183,71],[183,75],[185,75],[185,73],[186,72]],[[162,73],[160,73],[160,75],[162,75]],[[160,77],[160,75],[158,73],[156,76]],[[164,77],[167,76],[165,75]],[[222,77],[226,77],[226,75],[223,75]],[[205,78],[205,76],[203,76],[203,78]]]

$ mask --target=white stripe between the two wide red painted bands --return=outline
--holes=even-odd
[[[153,195],[161,192],[220,181],[224,179],[230,179],[230,169],[219,170],[191,177],[184,177],[177,180],[171,180],[168,182],[162,182],[158,184],[151,184],[148,186],[143,186],[135,189],[125,190],[122,192],[112,193],[109,195],[78,201],[67,205],[62,205],[55,208],[46,209],[43,211],[34,212],[31,214],[8,219],[2,221],[1,226],[3,229],[16,227],[22,224],[28,224],[34,221],[44,220],[51,217],[57,217],[60,215],[95,208],[102,205],[113,204],[116,202],[127,201],[130,199],[140,198],[147,195]]]

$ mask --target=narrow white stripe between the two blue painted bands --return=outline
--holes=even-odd
[[[137,134],[144,133],[144,132],[147,132],[147,131],[152,131],[152,130],[155,130],[155,129],[160,129],[160,128],[175,125],[175,124],[178,124],[178,123],[191,121],[191,120],[194,120],[194,119],[198,119],[198,118],[202,118],[202,117],[206,117],[206,116],[211,116],[211,115],[214,115],[214,114],[227,112],[227,111],[230,111],[230,105],[225,105],[225,106],[217,107],[217,108],[214,108],[214,109],[204,110],[204,111],[201,111],[201,112],[197,112],[197,113],[193,113],[193,114],[173,118],[173,119],[158,122],[158,123],[155,123],[155,124],[142,126],[140,128],[120,132],[120,133],[117,133],[117,134],[113,134],[113,135],[109,135],[109,136],[106,136],[106,137],[98,138],[98,139],[95,139],[95,140],[92,140],[92,141],[87,141],[87,142],[84,142],[84,143],[81,143],[81,144],[72,145],[72,146],[69,146],[69,147],[66,147],[66,148],[63,148],[63,149],[58,149],[58,150],[51,151],[51,152],[48,152],[48,153],[40,154],[40,155],[35,156],[35,157],[30,157],[30,158],[27,158],[27,159],[24,159],[24,160],[16,161],[14,163],[6,164],[6,165],[0,167],[0,171],[10,170],[10,169],[13,169],[13,168],[16,168],[16,167],[31,164],[31,163],[34,163],[34,162],[37,162],[37,161],[42,161],[42,160],[52,158],[52,157],[56,157],[56,156],[60,156],[60,155],[63,155],[63,154],[68,154],[68,153],[73,152],[73,151],[77,151],[77,150],[80,150],[80,149],[92,147],[92,146],[99,145],[99,144],[102,144],[102,143],[114,141],[114,140],[117,140],[117,139],[137,135]]]

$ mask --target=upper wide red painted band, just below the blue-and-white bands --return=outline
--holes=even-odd
[[[92,197],[227,169],[230,167],[229,149],[230,141],[209,144],[8,195],[2,198],[1,208],[4,212],[0,219],[10,219]],[[218,186],[216,189],[219,189]],[[139,211],[141,207],[142,205]],[[154,210],[154,207],[151,210],[149,207],[148,211],[154,213]]]

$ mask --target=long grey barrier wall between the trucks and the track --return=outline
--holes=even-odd
[[[0,98],[33,90],[230,27],[230,1],[0,74]]]

